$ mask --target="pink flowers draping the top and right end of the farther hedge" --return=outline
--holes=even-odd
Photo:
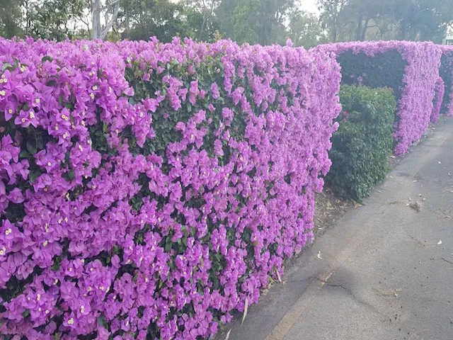
[[[340,55],[351,51],[374,57],[396,51],[406,62],[402,79],[401,98],[396,109],[394,152],[404,154],[408,147],[428,128],[435,97],[435,84],[439,77],[440,48],[432,42],[340,42],[321,45],[315,50],[328,50]]]

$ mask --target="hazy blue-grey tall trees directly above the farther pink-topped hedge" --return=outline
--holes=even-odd
[[[453,20],[452,1],[317,0],[331,41],[441,42]]]

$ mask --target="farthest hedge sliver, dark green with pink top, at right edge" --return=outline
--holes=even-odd
[[[453,46],[441,45],[442,58],[440,64],[440,77],[445,83],[445,93],[440,113],[453,115]]]

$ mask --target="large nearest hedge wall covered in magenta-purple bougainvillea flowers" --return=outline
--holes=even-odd
[[[312,238],[327,52],[0,40],[0,62],[5,339],[207,337]]]

